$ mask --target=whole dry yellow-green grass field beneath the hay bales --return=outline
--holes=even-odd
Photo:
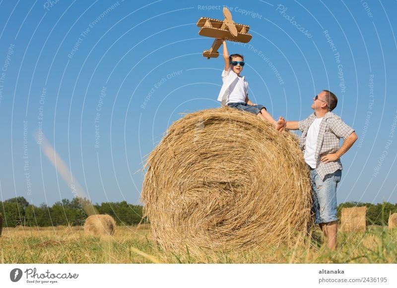
[[[1,263],[397,263],[397,231],[371,226],[364,234],[338,232],[329,251],[318,230],[304,245],[207,254],[200,258],[166,253],[147,225],[117,227],[113,237],[85,236],[82,227],[4,228]]]

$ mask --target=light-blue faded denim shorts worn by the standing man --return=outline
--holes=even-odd
[[[312,184],[312,196],[314,223],[329,223],[336,221],[336,187],[342,176],[341,170],[327,174],[321,179],[316,169],[310,169],[310,182]]]

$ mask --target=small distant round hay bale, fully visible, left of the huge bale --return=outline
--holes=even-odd
[[[91,215],[84,223],[84,233],[93,236],[113,235],[115,228],[116,222],[109,215]]]

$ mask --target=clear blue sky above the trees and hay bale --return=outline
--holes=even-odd
[[[299,120],[321,90],[338,96],[359,137],[338,202],[396,203],[397,3],[364,0],[0,1],[1,199],[52,205],[79,183],[94,203],[139,203],[142,163],[171,123],[220,106],[223,59],[201,55],[212,39],[196,22],[223,5],[250,26],[251,42],[228,48],[254,102]]]

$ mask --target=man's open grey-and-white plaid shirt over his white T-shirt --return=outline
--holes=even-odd
[[[316,113],[314,112],[305,120],[298,122],[298,129],[302,131],[302,136],[299,139],[299,147],[303,151],[303,154],[305,154],[307,131],[315,119]],[[338,169],[342,170],[342,163],[340,159],[323,163],[320,161],[321,156],[335,153],[339,149],[340,138],[346,140],[353,132],[354,130],[347,126],[339,116],[332,112],[327,112],[327,114],[324,115],[320,123],[315,153],[315,159],[317,159],[317,173],[319,173],[322,179],[324,179],[327,174],[333,173]]]

